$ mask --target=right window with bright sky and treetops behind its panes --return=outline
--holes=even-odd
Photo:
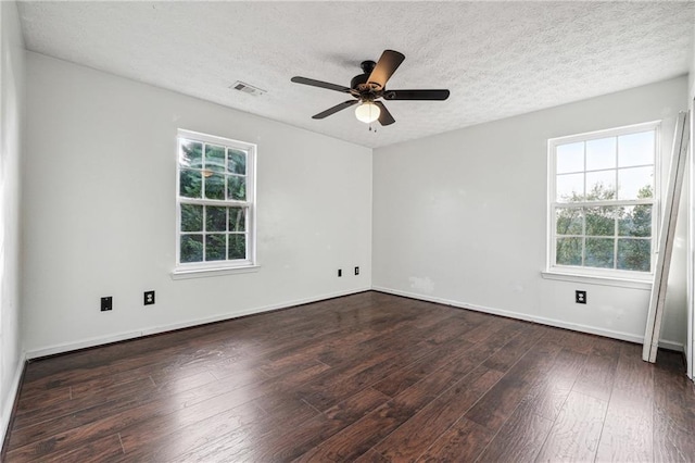
[[[548,271],[649,275],[658,146],[658,123],[548,141]]]

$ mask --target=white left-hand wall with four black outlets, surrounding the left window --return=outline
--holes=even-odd
[[[370,149],[27,57],[29,356],[370,287]],[[179,127],[257,143],[258,272],[170,278]]]

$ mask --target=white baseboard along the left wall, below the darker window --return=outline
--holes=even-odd
[[[190,320],[190,321],[180,322],[180,323],[173,323],[168,325],[153,326],[153,327],[143,328],[135,331],[118,333],[118,334],[109,335],[109,336],[99,336],[94,338],[83,339],[75,342],[66,342],[62,345],[29,350],[26,352],[26,359],[39,359],[42,356],[55,355],[58,353],[65,353],[73,350],[86,349],[90,347],[106,345],[110,342],[118,342],[118,341],[125,341],[128,339],[141,338],[143,336],[156,335],[160,333],[173,331],[175,329],[181,329],[181,328],[190,328],[193,326],[205,325],[208,323],[224,322],[226,320],[239,318],[240,316],[253,315],[253,314],[268,312],[268,311],[278,310],[278,309],[288,309],[295,305],[307,304],[311,302],[318,302],[326,299],[339,298],[341,296],[349,296],[349,295],[354,295],[357,292],[364,292],[369,290],[371,290],[371,287],[350,289],[346,291],[331,292],[327,295],[314,296],[311,298],[298,299],[289,302],[281,302],[277,304],[248,309],[241,312],[220,314],[220,315],[215,315],[215,316],[205,317],[205,318],[195,318],[195,320]]]

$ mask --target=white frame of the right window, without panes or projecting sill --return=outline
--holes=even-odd
[[[591,141],[596,139],[620,137],[623,135],[637,134],[643,132],[655,133],[655,147],[654,147],[654,196],[652,199],[634,199],[634,200],[605,200],[605,201],[582,201],[582,202],[558,202],[556,198],[556,179],[557,179],[557,155],[556,148],[561,145],[568,145],[579,141]],[[661,192],[661,121],[652,121],[641,124],[633,124],[621,127],[614,127],[608,129],[595,130],[583,134],[576,134],[565,137],[549,138],[547,140],[547,226],[546,226],[546,265],[545,274],[547,275],[567,275],[577,277],[597,277],[602,280],[623,280],[623,281],[650,281],[654,277],[654,266],[656,264],[656,254],[658,247],[658,224],[660,216],[660,192]],[[648,165],[648,164],[644,164]],[[630,166],[639,167],[639,166]],[[620,167],[616,164],[615,170]],[[584,157],[584,174],[586,172],[586,158]],[[585,182],[585,180],[584,180]],[[618,185],[616,184],[616,188]],[[618,268],[601,268],[589,267],[578,265],[558,265],[556,264],[556,238],[557,238],[557,222],[556,210],[558,208],[587,208],[587,207],[620,207],[620,205],[637,205],[637,204],[652,204],[652,236],[650,236],[650,262],[649,272],[640,271],[627,271]],[[585,226],[585,225],[584,225]],[[584,233],[582,236],[585,237]],[[612,235],[616,238],[616,235]],[[583,252],[585,252],[585,245],[582,246]],[[614,251],[617,252],[617,251]],[[549,277],[549,276],[548,276]]]

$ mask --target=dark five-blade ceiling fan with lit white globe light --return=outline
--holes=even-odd
[[[387,80],[389,80],[395,70],[399,68],[403,60],[405,60],[403,53],[384,50],[383,53],[381,53],[381,58],[379,58],[379,62],[363,61],[361,64],[363,74],[353,77],[350,87],[307,77],[292,77],[291,80],[295,84],[311,85],[312,87],[350,93],[354,98],[315,114],[312,118],[328,117],[338,111],[359,104],[355,110],[357,120],[367,124],[379,121],[381,125],[390,125],[393,124],[395,120],[383,102],[379,101],[380,99],[442,101],[448,98],[448,90],[387,90]]]

